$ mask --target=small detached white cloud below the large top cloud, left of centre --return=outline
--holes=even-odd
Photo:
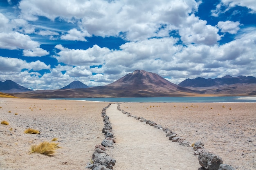
[[[67,31],[67,34],[61,35],[62,40],[72,40],[72,41],[87,41],[85,37],[91,37],[87,31],[78,31],[77,29],[71,29]]]

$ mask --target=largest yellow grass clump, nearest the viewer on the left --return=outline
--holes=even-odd
[[[47,141],[44,141],[38,145],[32,145],[30,153],[36,152],[43,155],[52,156],[55,153],[55,150],[58,148],[61,148],[60,146],[58,146],[58,143],[49,143]]]

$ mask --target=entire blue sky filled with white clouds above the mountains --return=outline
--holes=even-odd
[[[256,77],[254,0],[1,0],[0,81],[101,86],[141,69]]]

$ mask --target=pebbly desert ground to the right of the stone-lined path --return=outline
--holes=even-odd
[[[256,103],[123,103],[121,109],[155,121],[238,170],[256,169]]]

